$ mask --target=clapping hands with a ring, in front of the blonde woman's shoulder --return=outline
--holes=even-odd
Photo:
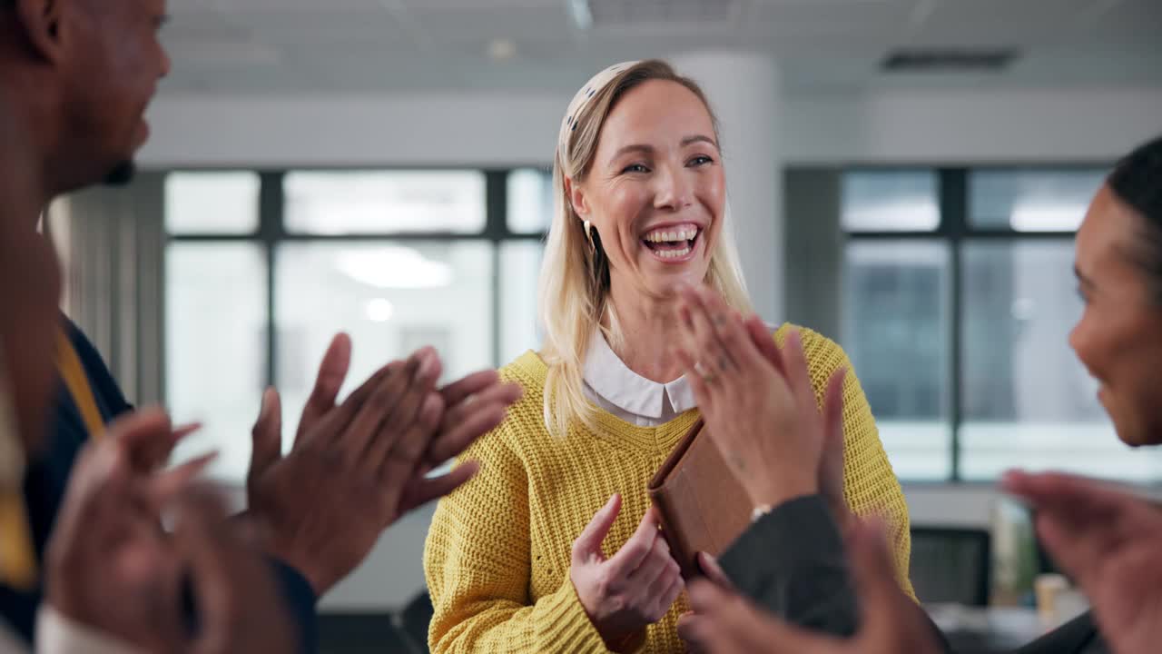
[[[832,375],[820,413],[798,332],[780,351],[758,317],[744,320],[713,291],[684,287],[682,363],[708,433],[753,505],[823,492],[842,500],[842,388]],[[844,521],[841,519],[841,521]]]

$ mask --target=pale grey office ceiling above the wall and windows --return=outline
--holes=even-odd
[[[572,92],[605,64],[697,49],[769,52],[792,91],[1162,86],[1162,0],[170,0],[170,10],[165,93]],[[889,51],[926,47],[1020,57],[1002,72],[881,70]]]

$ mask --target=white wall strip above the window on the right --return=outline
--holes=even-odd
[[[791,163],[1109,161],[1162,133],[1162,88],[884,91],[792,98]]]

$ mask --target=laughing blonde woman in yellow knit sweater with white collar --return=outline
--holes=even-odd
[[[717,121],[659,61],[611,66],[561,122],[540,280],[543,350],[466,454],[483,469],[440,502],[424,550],[432,652],[683,652],[689,604],[646,483],[698,418],[672,355],[682,284],[749,312],[726,225]],[[846,355],[804,330],[818,396]],[[845,496],[885,516],[908,588],[908,510],[854,375],[844,388]]]

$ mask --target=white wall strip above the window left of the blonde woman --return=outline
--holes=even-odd
[[[146,166],[494,165],[552,161],[567,98],[162,97]]]

